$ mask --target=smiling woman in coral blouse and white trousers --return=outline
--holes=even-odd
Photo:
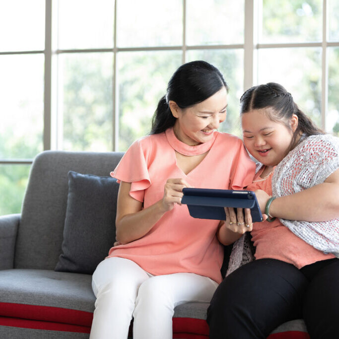
[[[181,197],[184,187],[242,189],[253,180],[242,141],[216,131],[227,91],[206,62],[178,68],[151,135],[136,140],[112,172],[120,181],[118,246],[93,274],[91,339],[126,339],[132,317],[134,339],[170,339],[175,306],[209,302],[221,282],[218,221],[192,218]]]

